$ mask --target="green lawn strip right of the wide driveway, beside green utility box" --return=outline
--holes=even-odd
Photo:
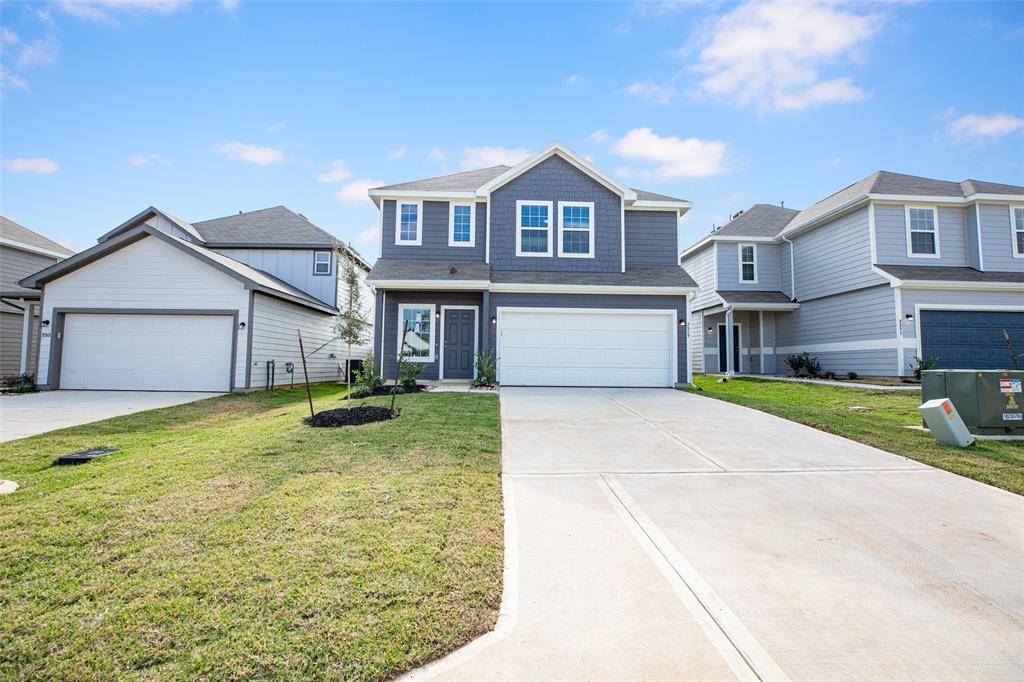
[[[701,395],[736,402],[962,476],[1024,495],[1024,443],[978,440],[966,449],[947,447],[930,433],[903,428],[920,425],[919,393],[836,388],[758,379],[694,377]],[[851,407],[871,412],[852,412]]]

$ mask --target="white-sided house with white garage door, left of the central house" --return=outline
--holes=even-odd
[[[334,339],[349,247],[283,206],[188,223],[148,208],[22,280],[42,290],[40,384],[228,391],[342,378]],[[372,318],[372,294],[364,297]],[[357,349],[356,357],[369,347]],[[289,365],[293,372],[289,372]]]

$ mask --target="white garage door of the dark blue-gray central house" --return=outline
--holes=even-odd
[[[675,316],[659,310],[499,308],[505,386],[672,386]]]

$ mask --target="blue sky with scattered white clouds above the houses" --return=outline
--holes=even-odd
[[[0,211],[81,250],[148,206],[285,205],[371,260],[366,189],[559,140],[693,209],[877,170],[1024,184],[1024,3],[0,4]]]

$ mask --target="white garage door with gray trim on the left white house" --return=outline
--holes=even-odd
[[[68,313],[60,388],[227,391],[233,322],[227,315]]]

